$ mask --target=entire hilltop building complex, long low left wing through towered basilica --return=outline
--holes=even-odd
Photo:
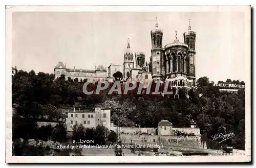
[[[163,46],[163,30],[159,28],[157,18],[155,28],[150,33],[152,49],[149,62],[145,62],[146,56],[143,52],[132,51],[128,39],[123,65],[111,63],[108,69],[102,65],[95,65],[95,69],[90,70],[67,68],[66,64],[59,62],[54,68],[55,78],[63,74],[66,78],[78,78],[78,80],[113,82],[113,74],[120,71],[124,81],[143,82],[145,85],[152,80],[162,81],[176,90],[180,87],[194,87],[196,32],[191,31],[190,20],[188,31],[183,33],[184,43],[179,41],[176,31],[175,40]]]

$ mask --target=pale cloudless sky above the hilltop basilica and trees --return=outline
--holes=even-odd
[[[13,12],[12,66],[54,73],[59,61],[68,68],[94,69],[123,64],[130,39],[133,52],[151,56],[151,34],[158,17],[163,46],[175,31],[184,42],[196,35],[196,78],[245,81],[245,16],[243,12]],[[247,65],[248,66],[248,65]]]

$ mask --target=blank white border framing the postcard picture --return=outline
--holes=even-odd
[[[245,156],[12,156],[12,108],[11,108],[11,62],[12,62],[12,12],[227,12],[245,13],[245,68],[246,68],[246,110]],[[6,6],[6,162],[248,162],[251,161],[251,14],[250,6]]]

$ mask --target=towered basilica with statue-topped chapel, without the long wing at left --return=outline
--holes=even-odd
[[[151,30],[152,49],[150,62],[145,62],[142,52],[133,53],[130,41],[124,53],[123,76],[131,81],[163,81],[170,87],[180,88],[195,86],[196,82],[196,32],[191,31],[190,21],[188,31],[183,33],[184,43],[176,37],[174,42],[162,46],[163,30],[158,23]]]

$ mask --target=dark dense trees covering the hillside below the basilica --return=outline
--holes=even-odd
[[[54,80],[54,75],[27,73],[18,71],[12,78],[12,105],[16,111],[13,115],[13,128],[25,129],[26,137],[35,136],[36,123],[40,118],[57,120],[61,117],[60,106],[92,105],[102,103],[113,108],[112,120],[117,122],[117,104],[120,104],[121,126],[157,127],[162,119],[173,123],[174,127],[189,127],[192,121],[197,123],[201,134],[207,132],[208,137],[217,133],[234,132],[236,136],[223,143],[237,149],[245,148],[245,90],[236,92],[220,92],[207,77],[199,78],[196,89],[179,90],[179,99],[174,97],[154,95],[155,85],[151,94],[137,94],[138,87],[127,95],[116,92],[108,94],[108,89],[100,94],[87,95],[82,92],[82,86],[87,80],[65,80],[61,76]],[[231,81],[226,83],[244,84]],[[219,81],[218,83],[223,83]],[[96,83],[97,85],[97,83]],[[88,91],[96,90],[95,85],[88,85]],[[121,90],[123,91],[122,86]],[[186,97],[188,91],[189,97]],[[14,133],[18,135],[19,131]]]

